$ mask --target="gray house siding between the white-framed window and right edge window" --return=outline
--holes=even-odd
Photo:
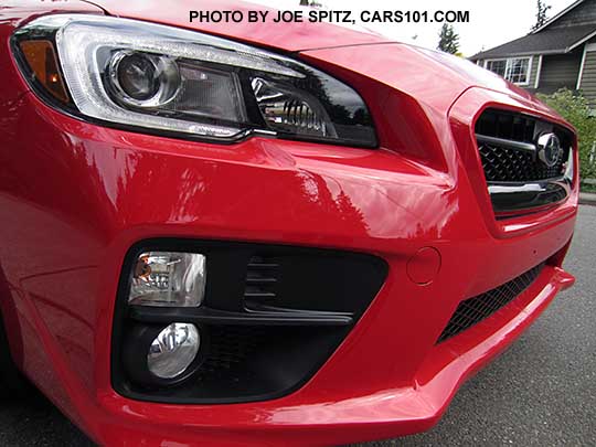
[[[582,55],[583,49],[568,54],[543,56],[538,92],[550,94],[563,87],[574,91],[577,86]]]

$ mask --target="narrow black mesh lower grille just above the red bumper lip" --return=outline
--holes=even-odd
[[[502,286],[461,301],[449,320],[449,323],[440,334],[437,343],[444,342],[466,329],[471,328],[511,302],[520,296],[522,291],[530,287],[530,285],[539,277],[543,267],[544,264],[540,264]]]

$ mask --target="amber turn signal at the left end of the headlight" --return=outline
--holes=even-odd
[[[44,40],[20,43],[21,52],[33,75],[47,92],[63,103],[68,103],[68,94],[57,67],[56,53],[52,42]]]

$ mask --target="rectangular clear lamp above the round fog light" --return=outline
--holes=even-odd
[[[128,302],[137,306],[198,307],[205,295],[205,256],[148,252],[135,264]]]

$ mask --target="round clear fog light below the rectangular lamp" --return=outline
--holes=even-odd
[[[194,324],[171,323],[151,343],[147,366],[160,379],[175,379],[194,361],[200,345],[201,337]]]

